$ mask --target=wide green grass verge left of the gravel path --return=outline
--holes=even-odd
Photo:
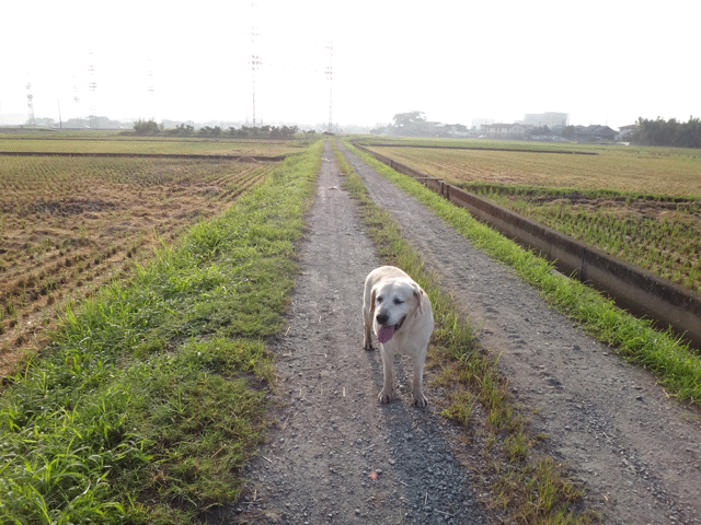
[[[189,524],[238,497],[321,147],[67,310],[0,397],[1,523]]]

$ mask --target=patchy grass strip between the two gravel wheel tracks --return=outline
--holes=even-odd
[[[561,465],[533,451],[539,438],[528,435],[526,421],[513,406],[495,358],[475,342],[469,319],[455,300],[441,292],[438,277],[424,269],[421,256],[402,238],[392,215],[369,199],[343,153],[334,148],[334,155],[379,256],[409,272],[430,299],[436,329],[429,359],[443,368],[438,384],[446,387],[449,399],[444,416],[468,427],[476,421],[478,405],[486,415],[482,423],[490,435],[483,451],[483,468],[497,479],[494,504],[504,508],[514,523],[593,523],[595,516],[590,512],[572,510],[582,500],[582,489],[567,479]]]

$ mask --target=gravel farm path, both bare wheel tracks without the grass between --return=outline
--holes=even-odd
[[[361,289],[381,261],[364,233],[329,147],[319,176],[302,273],[277,341],[279,424],[246,472],[233,523],[495,523],[462,467],[453,429],[411,406],[409,362],[399,398],[379,405],[381,363],[361,349]],[[549,451],[586,481],[607,524],[701,524],[697,411],[666,397],[529,285],[474,249],[413,198],[346,153],[370,197],[443,276]],[[460,455],[462,459],[464,456]],[[469,460],[469,459],[468,459]],[[479,460],[479,459],[473,459]],[[375,479],[374,479],[375,478]]]

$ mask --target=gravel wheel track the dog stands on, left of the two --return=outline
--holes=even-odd
[[[278,423],[243,472],[250,483],[228,523],[485,524],[451,427],[411,405],[410,360],[395,364],[394,401],[377,400],[382,364],[363,349],[361,307],[365,277],[381,262],[342,184],[326,143],[274,343]]]

